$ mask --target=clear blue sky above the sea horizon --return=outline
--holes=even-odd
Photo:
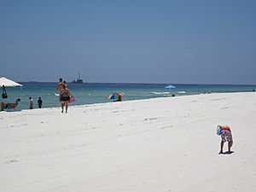
[[[0,0],[0,76],[256,84],[256,1]]]

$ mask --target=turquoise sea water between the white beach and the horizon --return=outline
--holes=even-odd
[[[42,97],[43,108],[60,107],[58,102],[58,93],[56,90],[57,83],[21,83],[22,88],[8,87],[8,99],[4,102],[14,102],[16,98],[20,98],[21,102],[18,109],[29,108],[29,96],[32,96],[34,108],[38,108],[38,96]],[[124,93],[123,101],[148,99],[155,97],[195,95],[204,91],[211,92],[247,92],[256,90],[256,85],[236,85],[236,84],[172,84],[177,89],[167,90],[165,86],[168,84],[68,84],[69,90],[76,97],[77,102],[71,105],[83,105],[102,102],[112,102],[108,99],[108,95],[113,92]],[[171,91],[172,94],[169,92]],[[2,92],[2,88],[1,88]]]

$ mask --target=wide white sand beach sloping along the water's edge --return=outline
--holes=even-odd
[[[253,192],[255,119],[253,92],[1,112],[0,191]]]

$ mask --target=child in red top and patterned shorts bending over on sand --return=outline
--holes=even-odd
[[[223,147],[225,142],[228,142],[228,148],[229,148],[229,150],[226,153],[227,154],[233,153],[233,151],[230,150],[233,145],[233,138],[232,138],[230,127],[227,125],[225,126],[218,125],[218,129],[220,130],[220,136],[221,136],[220,152],[218,154],[223,154]]]

